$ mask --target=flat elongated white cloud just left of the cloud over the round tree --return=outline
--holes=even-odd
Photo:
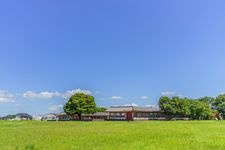
[[[33,92],[27,91],[23,93],[23,97],[27,99],[52,99],[55,96],[60,96],[61,94],[58,92]]]

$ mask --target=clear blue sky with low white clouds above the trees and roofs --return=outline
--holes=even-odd
[[[0,116],[225,92],[225,2],[1,1]]]

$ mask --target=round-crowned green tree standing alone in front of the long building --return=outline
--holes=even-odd
[[[82,114],[93,114],[96,112],[96,103],[93,96],[76,93],[69,98],[63,108],[67,115],[77,114],[81,120]]]

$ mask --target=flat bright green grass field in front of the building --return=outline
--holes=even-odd
[[[0,121],[0,150],[224,150],[225,122]]]

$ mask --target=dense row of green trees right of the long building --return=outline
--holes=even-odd
[[[225,94],[216,98],[202,97],[198,99],[162,96],[159,99],[159,107],[168,120],[175,117],[187,117],[192,120],[221,120],[225,118]]]

